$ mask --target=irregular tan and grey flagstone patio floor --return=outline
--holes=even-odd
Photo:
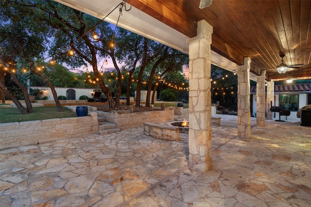
[[[237,116],[217,116],[207,173],[188,168],[188,134],[156,140],[142,127],[2,150],[0,206],[311,206],[311,127],[251,118],[245,140]]]

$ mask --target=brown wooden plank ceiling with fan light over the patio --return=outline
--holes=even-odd
[[[251,71],[267,69],[267,80],[311,78],[311,0],[213,0],[204,9],[200,0],[126,2],[188,37],[205,19],[213,27],[213,51],[239,65],[250,57]],[[305,65],[279,74],[279,51],[286,64]]]

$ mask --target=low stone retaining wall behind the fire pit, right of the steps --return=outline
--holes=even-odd
[[[143,111],[131,113],[130,110],[103,112],[97,111],[106,121],[116,123],[121,130],[131,127],[142,127],[144,122],[166,122],[174,120],[174,109],[165,108],[164,111]]]

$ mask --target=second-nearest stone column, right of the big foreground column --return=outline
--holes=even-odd
[[[238,74],[238,137],[248,139],[251,134],[250,71],[251,59],[244,58],[243,65],[237,65]]]

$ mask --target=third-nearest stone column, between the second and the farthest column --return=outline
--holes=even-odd
[[[256,124],[259,127],[266,126],[266,85],[265,85],[266,71],[261,71],[261,76],[257,77],[257,91],[256,91]]]

